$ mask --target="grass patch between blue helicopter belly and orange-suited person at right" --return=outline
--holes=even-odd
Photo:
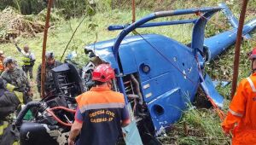
[[[183,100],[187,101],[187,109],[183,111],[183,117],[171,126],[171,131],[165,137],[160,137],[160,142],[188,145],[229,144],[230,138],[222,133],[218,114],[212,108],[196,108],[189,101],[189,96],[182,92]]]

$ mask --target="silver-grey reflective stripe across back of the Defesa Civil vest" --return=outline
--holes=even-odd
[[[80,108],[80,112],[84,113],[86,110],[91,110],[91,109],[123,108],[123,107],[125,107],[125,103],[121,103],[121,102],[98,103],[98,104],[84,105]]]

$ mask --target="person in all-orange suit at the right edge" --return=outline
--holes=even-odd
[[[233,145],[256,144],[256,48],[249,58],[253,73],[241,80],[222,124],[225,134],[233,134]]]

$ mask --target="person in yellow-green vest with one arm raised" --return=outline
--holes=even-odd
[[[35,65],[36,57],[35,55],[30,51],[28,45],[24,45],[23,49],[20,49],[17,43],[15,43],[16,48],[18,51],[20,51],[22,55],[22,69],[26,73],[29,73],[30,79],[33,78],[33,67]],[[28,78],[28,76],[27,76]]]

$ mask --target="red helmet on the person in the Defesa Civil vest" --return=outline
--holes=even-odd
[[[115,78],[113,68],[108,64],[101,64],[92,72],[92,80],[108,82],[113,78]]]

